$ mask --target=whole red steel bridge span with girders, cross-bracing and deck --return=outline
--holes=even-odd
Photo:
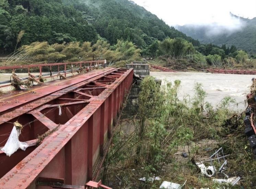
[[[7,134],[0,136],[0,146],[17,120],[24,126],[20,140],[31,142],[26,151],[18,150],[11,157],[0,151],[0,188],[51,188],[37,186],[39,177],[63,179],[67,186],[84,186],[92,180],[96,163],[102,164],[106,155],[105,143],[112,137],[132,78],[132,69],[111,68],[78,75],[60,86],[36,88],[38,98],[30,92],[5,97],[12,105],[0,108],[0,133]],[[13,103],[15,98],[21,102]],[[37,136],[51,129],[57,130],[37,147]]]

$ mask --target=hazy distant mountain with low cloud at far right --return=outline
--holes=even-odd
[[[246,50],[250,54],[256,53],[256,18],[247,19],[231,15],[239,19],[241,25],[232,30],[217,24],[210,25],[184,25],[176,28],[186,35],[198,39],[201,43],[212,43],[221,46],[236,46],[238,49]]]

